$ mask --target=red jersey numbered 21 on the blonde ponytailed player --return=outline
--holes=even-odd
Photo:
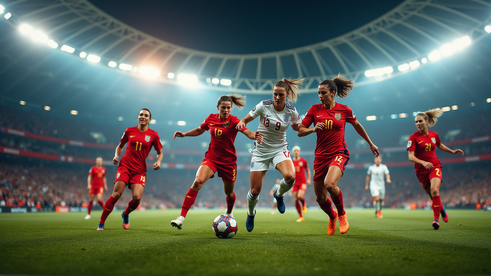
[[[428,130],[428,135],[423,135],[416,131],[409,136],[408,151],[414,152],[416,158],[432,163],[434,167],[441,167],[440,160],[438,160],[435,153],[435,148],[439,145],[440,138],[435,131]],[[414,164],[414,170],[416,173],[429,171],[420,164]]]

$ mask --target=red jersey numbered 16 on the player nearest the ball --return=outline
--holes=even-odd
[[[206,158],[212,159],[218,164],[234,164],[237,162],[237,153],[235,152],[234,141],[237,137],[236,126],[240,123],[239,118],[228,115],[227,120],[220,121],[218,114],[210,114],[203,123],[201,128],[210,130],[212,137]],[[244,127],[242,132],[247,128]]]

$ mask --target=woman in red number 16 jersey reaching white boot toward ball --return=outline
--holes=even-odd
[[[208,151],[205,153],[205,159],[196,172],[196,178],[191,185],[188,193],[184,197],[181,215],[170,222],[170,225],[181,230],[184,224],[184,218],[189,209],[196,200],[199,189],[205,182],[213,178],[218,172],[218,177],[223,181],[223,190],[225,191],[227,201],[227,214],[232,214],[235,204],[235,178],[237,176],[237,153],[235,151],[234,141],[237,137],[236,126],[240,122],[239,118],[230,114],[232,104],[242,109],[246,105],[246,97],[241,95],[224,95],[218,98],[218,114],[210,114],[198,128],[188,132],[176,131],[176,137],[198,136],[206,130],[210,130],[211,142]],[[241,130],[249,139],[262,142],[262,137],[256,135],[254,131],[247,128]]]

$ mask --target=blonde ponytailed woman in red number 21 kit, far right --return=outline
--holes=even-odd
[[[438,133],[428,129],[428,127],[436,124],[436,118],[440,117],[442,113],[441,109],[436,108],[416,115],[415,122],[418,131],[411,134],[408,141],[409,161],[415,163],[414,170],[419,183],[421,183],[421,186],[433,201],[432,209],[435,220],[432,225],[435,230],[440,227],[438,223],[440,213],[443,221],[448,221],[448,215],[445,213],[440,200],[442,166],[440,160],[436,157],[435,148],[446,153],[461,153],[464,155],[464,152],[460,149],[451,150],[443,145],[440,142]]]

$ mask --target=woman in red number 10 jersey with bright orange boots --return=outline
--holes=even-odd
[[[300,124],[299,137],[317,134],[314,159],[314,191],[316,201],[321,209],[329,216],[327,235],[336,231],[336,220],[339,217],[339,232],[344,234],[350,229],[348,218],[343,207],[343,193],[337,187],[339,179],[343,176],[346,165],[350,160],[350,152],[344,140],[346,123],[351,123],[356,132],[368,142],[370,150],[379,156],[379,149],[372,143],[363,126],[356,120],[355,112],[346,105],[336,103],[334,96],[344,98],[349,95],[354,84],[338,75],[332,80],[324,80],[319,84],[320,104],[314,104]],[[308,128],[314,123],[313,128]],[[337,212],[332,209],[330,194]]]

